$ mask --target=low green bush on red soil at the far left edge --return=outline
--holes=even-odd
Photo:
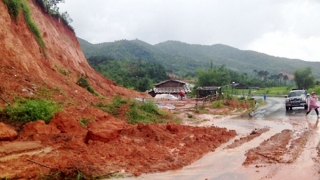
[[[44,99],[18,99],[12,106],[7,106],[2,114],[11,121],[44,120],[49,123],[53,115],[59,110],[59,105]]]

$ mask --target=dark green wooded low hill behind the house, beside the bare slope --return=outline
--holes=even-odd
[[[117,84],[137,91],[151,89],[154,84],[169,79],[165,68],[160,63],[116,60],[106,56],[88,58],[93,69]]]

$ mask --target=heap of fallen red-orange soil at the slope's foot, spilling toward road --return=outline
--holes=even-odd
[[[236,135],[218,127],[129,125],[105,118],[92,122],[88,130],[63,113],[48,125],[43,121],[24,125],[16,141],[0,146],[1,177],[32,179],[56,170],[69,176],[77,170],[96,176],[138,176],[179,169]]]

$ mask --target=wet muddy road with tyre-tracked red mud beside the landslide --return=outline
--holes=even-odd
[[[285,111],[283,98],[267,98],[253,118],[197,115],[198,126],[236,130],[237,136],[180,170],[124,179],[319,180],[320,136],[315,112]],[[186,121],[187,124],[192,124]]]

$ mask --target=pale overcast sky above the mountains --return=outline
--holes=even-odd
[[[176,40],[320,61],[319,0],[65,0],[59,7],[77,37],[93,44]]]

